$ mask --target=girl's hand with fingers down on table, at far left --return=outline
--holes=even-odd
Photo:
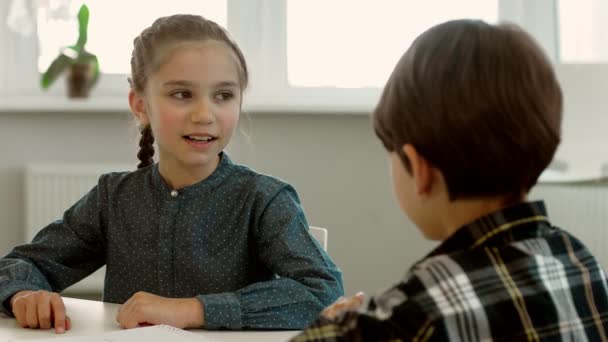
[[[50,329],[57,334],[72,328],[65,314],[63,300],[58,293],[48,291],[20,291],[11,297],[13,315],[23,328]]]

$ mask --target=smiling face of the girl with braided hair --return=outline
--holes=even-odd
[[[214,40],[180,44],[163,57],[148,79],[138,118],[152,127],[161,171],[206,177],[239,118],[238,60]]]

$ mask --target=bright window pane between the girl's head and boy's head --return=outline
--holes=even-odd
[[[498,1],[287,0],[289,84],[381,87],[414,38],[456,18],[495,23]]]

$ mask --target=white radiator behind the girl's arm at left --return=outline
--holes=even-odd
[[[84,196],[103,173],[133,170],[135,165],[38,163],[25,168],[25,239],[34,236]],[[65,291],[68,294],[101,293],[104,270]]]

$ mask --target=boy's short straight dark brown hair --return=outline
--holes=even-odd
[[[449,21],[401,57],[374,111],[374,130],[408,171],[412,144],[451,200],[530,190],[560,142],[562,93],[534,39],[512,24]]]

